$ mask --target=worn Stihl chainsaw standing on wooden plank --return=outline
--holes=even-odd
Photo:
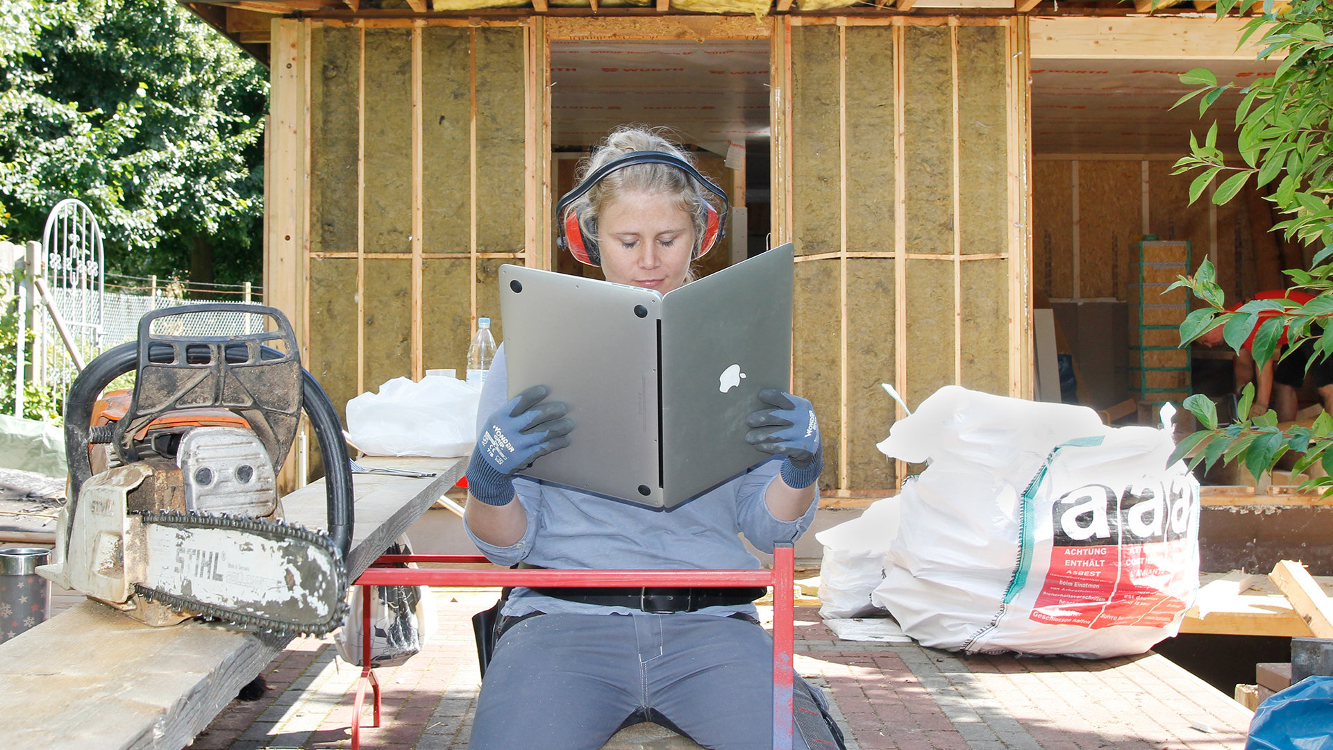
[[[185,316],[272,326],[180,335]],[[272,330],[265,330],[272,328]],[[297,356],[291,323],[259,304],[148,312],[139,339],[79,374],[65,399],[68,502],[37,573],[152,626],[205,617],[281,635],[347,615],[352,470],[337,412]],[[135,372],[128,392],[103,391]],[[327,472],[327,532],[283,522],[277,474],[301,412]]]

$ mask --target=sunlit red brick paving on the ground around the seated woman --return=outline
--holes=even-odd
[[[480,678],[469,618],[493,593],[437,591],[440,630],[384,690],[373,750],[465,750]],[[852,750],[1241,750],[1250,713],[1154,654],[1104,661],[960,657],[838,641],[797,610],[796,669],[825,689]],[[293,641],[259,701],[233,701],[196,750],[343,749],[360,674],[332,638]],[[369,701],[368,701],[369,703]],[[371,709],[364,710],[369,723]],[[619,738],[617,738],[619,739]],[[628,747],[629,743],[621,743]],[[653,739],[633,747],[686,747]]]

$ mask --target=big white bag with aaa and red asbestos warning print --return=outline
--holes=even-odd
[[[1198,482],[1166,466],[1169,430],[948,386],[878,447],[928,464],[904,483],[870,597],[921,645],[1105,658],[1178,631],[1198,590]]]

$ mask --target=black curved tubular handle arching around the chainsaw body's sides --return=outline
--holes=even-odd
[[[167,344],[160,344],[167,347]],[[264,347],[269,348],[269,347]],[[277,350],[272,350],[276,354]],[[153,351],[149,351],[149,358]],[[173,354],[169,347],[161,354],[163,360],[169,362]],[[77,512],[79,491],[84,482],[92,478],[92,462],[88,455],[88,438],[92,431],[92,408],[101,391],[116,378],[125,372],[133,372],[139,364],[137,342],[127,342],[112,347],[88,363],[75,379],[65,398],[65,459],[69,463],[69,498],[67,499],[68,515],[72,519]],[[352,464],[347,452],[347,443],[343,440],[343,427],[329,402],[328,394],[319,380],[301,368],[301,408],[311,419],[315,436],[319,440],[320,455],[324,456],[325,495],[328,498],[328,534],[333,544],[347,559],[352,551],[353,527],[353,494],[352,494]],[[65,528],[65,544],[69,543],[69,532],[73,523]]]

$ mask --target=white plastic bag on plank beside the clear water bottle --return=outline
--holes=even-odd
[[[464,456],[477,440],[481,391],[457,378],[395,378],[347,402],[352,443],[371,455]]]

